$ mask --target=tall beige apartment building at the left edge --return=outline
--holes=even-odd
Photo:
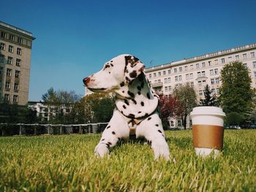
[[[26,105],[32,41],[29,31],[0,21],[0,99]]]

